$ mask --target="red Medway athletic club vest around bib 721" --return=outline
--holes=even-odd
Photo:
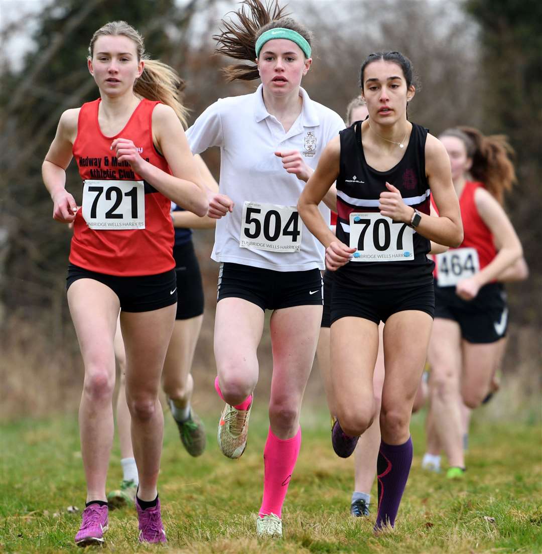
[[[152,111],[160,102],[142,99],[126,126],[114,137],[106,137],[98,124],[101,99],[81,106],[73,156],[81,179],[143,181],[125,162],[117,162],[111,142],[130,139],[140,156],[171,174],[166,158],[152,142]],[[71,239],[70,263],[108,275],[155,275],[175,267],[172,255],[171,201],[145,182],[145,229],[94,230],[86,224],[82,210],[76,214]]]

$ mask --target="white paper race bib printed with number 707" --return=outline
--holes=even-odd
[[[350,214],[350,261],[406,261],[414,259],[414,231],[379,212]]]

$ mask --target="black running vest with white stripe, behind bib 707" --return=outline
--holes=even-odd
[[[365,161],[361,142],[361,121],[340,132],[340,170],[337,186],[336,235],[350,244],[350,213],[379,212],[380,193],[387,191],[386,181],[395,186],[403,201],[429,214],[430,191],[425,171],[427,129],[412,124],[412,132],[402,160],[388,171],[376,171]],[[335,279],[346,286],[368,288],[402,288],[432,283],[433,261],[427,258],[431,249],[428,239],[413,236],[413,260],[350,261],[335,271]]]

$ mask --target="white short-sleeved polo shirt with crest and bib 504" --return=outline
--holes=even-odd
[[[305,182],[287,173],[274,152],[299,150],[314,170],[344,122],[300,88],[301,113],[284,132],[262,91],[260,85],[253,94],[219,99],[186,132],[194,154],[220,147],[219,190],[235,203],[217,220],[211,258],[277,271],[324,269],[324,248],[295,211]],[[323,202],[319,208],[329,221],[329,208]]]

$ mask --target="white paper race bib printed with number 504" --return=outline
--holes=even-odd
[[[241,248],[271,252],[299,252],[303,222],[293,206],[244,202]]]

